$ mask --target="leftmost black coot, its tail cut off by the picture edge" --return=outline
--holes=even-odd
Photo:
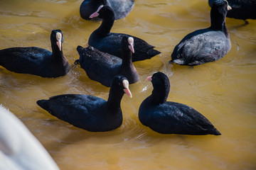
[[[0,50],[0,65],[6,69],[41,77],[62,77],[70,66],[63,55],[63,33],[53,30],[50,34],[53,52],[39,47],[11,47]]]

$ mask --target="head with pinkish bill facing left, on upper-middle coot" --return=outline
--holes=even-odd
[[[89,18],[109,18],[109,17],[114,17],[114,11],[110,6],[100,6],[97,8],[97,11],[95,13],[92,13]]]

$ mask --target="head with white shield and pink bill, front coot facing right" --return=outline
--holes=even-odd
[[[112,80],[112,84],[110,89],[117,93],[127,94],[130,98],[132,98],[132,93],[129,91],[129,81],[126,77],[122,75],[117,75]]]

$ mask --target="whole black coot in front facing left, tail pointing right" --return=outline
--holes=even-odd
[[[201,113],[185,104],[166,101],[170,83],[164,73],[148,77],[153,84],[151,96],[139,107],[139,120],[143,125],[163,134],[221,135]]]

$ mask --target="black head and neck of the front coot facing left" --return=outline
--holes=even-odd
[[[165,103],[170,91],[170,82],[166,74],[156,72],[146,79],[151,81],[154,87],[152,91],[153,102],[156,104]]]

